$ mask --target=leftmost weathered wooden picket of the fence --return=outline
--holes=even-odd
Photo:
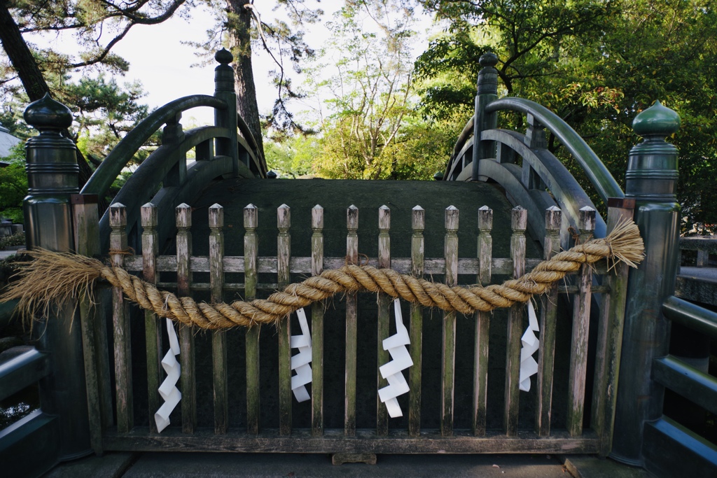
[[[110,206],[110,262],[122,267],[127,249],[127,211],[115,203]],[[127,301],[119,287],[112,288],[112,322],[115,338],[115,393],[117,401],[117,430],[130,431],[134,426],[132,395],[132,348]]]

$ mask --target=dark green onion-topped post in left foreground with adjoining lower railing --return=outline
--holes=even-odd
[[[27,246],[70,252],[75,248],[70,196],[78,192],[79,168],[75,144],[63,138],[60,130],[70,126],[72,113],[46,95],[27,107],[24,118],[40,132],[26,145]],[[22,457],[32,462],[29,468],[43,472],[58,460],[75,459],[92,451],[82,335],[79,327],[72,327],[73,318],[72,304],[52,310],[49,317],[34,326],[37,350],[16,363],[17,373],[29,371],[24,378],[39,384],[40,410],[0,433],[0,461],[9,464],[6,472],[10,474],[24,474],[24,467],[16,467]],[[48,356],[52,360],[46,361]],[[17,373],[7,372],[11,385]],[[51,443],[46,441],[49,436],[54,437]],[[39,449],[44,450],[33,457],[33,451]]]

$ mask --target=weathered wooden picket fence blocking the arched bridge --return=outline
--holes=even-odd
[[[608,228],[620,217],[632,217],[632,209],[622,208],[621,204],[611,204],[608,211]],[[277,209],[277,255],[262,257],[259,255],[257,238],[258,209],[252,204],[244,208],[244,256],[224,256],[224,214],[222,206],[209,207],[209,256],[192,255],[191,207],[181,204],[176,208],[176,255],[158,255],[156,226],[158,224],[156,208],[146,204],[141,209],[143,226],[142,255],[126,252],[127,237],[125,231],[126,211],[121,204],[110,207],[110,259],[115,265],[141,273],[149,282],[158,287],[174,290],[179,295],[193,295],[209,292],[210,300],[221,301],[228,292],[241,292],[244,299],[257,297],[257,291],[275,290],[290,282],[290,274],[318,274],[323,269],[341,267],[348,262],[362,262],[377,267],[391,267],[394,270],[414,274],[417,277],[430,277],[440,274],[449,285],[460,282],[488,285],[495,275],[519,277],[539,262],[538,259],[526,259],[526,221],[527,211],[516,207],[512,211],[511,257],[492,257],[491,229],[493,211],[483,206],[478,211],[458,211],[449,207],[445,211],[445,257],[424,257],[424,209],[416,206],[412,210],[412,257],[391,257],[391,210],[382,206],[378,211],[379,244],[378,257],[359,257],[357,231],[359,228],[359,210],[354,206],[346,210],[346,257],[325,257],[323,254],[323,209],[315,206],[311,211],[310,257],[293,257],[290,247],[290,207],[282,205]],[[361,211],[362,214],[375,214],[375,211]],[[457,254],[458,219],[462,214],[478,214],[478,252],[475,257],[461,258]],[[96,253],[96,231],[92,228],[94,204],[75,205],[75,224],[77,224],[78,252]],[[546,211],[546,236],[544,238],[545,258],[559,252],[561,211],[553,207]],[[96,216],[95,216],[96,217]],[[263,219],[264,221],[269,218]],[[273,219],[271,219],[273,220]],[[589,239],[594,229],[595,211],[581,210],[581,231],[575,239]],[[96,223],[95,223],[96,224]],[[233,229],[232,229],[233,230]],[[234,234],[238,236],[238,234]],[[90,239],[83,239],[90,238]],[[196,240],[206,240],[204,238]],[[272,376],[260,376],[260,328],[247,330],[245,335],[245,358],[227,359],[227,332],[212,332],[212,382],[214,386],[214,429],[197,426],[196,399],[196,350],[194,340],[196,331],[191,328],[179,328],[181,344],[181,426],[176,421],[161,434],[151,416],[161,405],[157,388],[163,379],[160,365],[163,350],[166,350],[166,338],[163,339],[163,326],[155,315],[145,312],[146,363],[148,403],[137,403],[133,398],[133,386],[130,353],[130,317],[128,303],[119,290],[112,292],[113,343],[112,359],[108,356],[108,338],[103,337],[107,328],[103,325],[101,314],[93,314],[89,307],[81,307],[82,332],[85,344],[85,370],[89,391],[90,426],[92,446],[95,451],[105,450],[174,450],[174,451],[254,451],[254,452],[313,452],[313,453],[593,453],[607,454],[612,436],[612,417],[614,415],[617,386],[617,368],[619,365],[619,344],[622,338],[622,320],[625,310],[625,284],[627,268],[621,264],[606,274],[604,264],[598,267],[582,267],[577,277],[571,281],[554,285],[551,292],[536,301],[541,304],[540,349],[538,353],[537,381],[529,393],[535,394],[534,429],[518,429],[518,376],[520,368],[521,335],[525,329],[524,307],[514,305],[508,312],[507,344],[505,359],[505,401],[503,405],[502,429],[487,429],[486,408],[488,401],[488,336],[491,328],[490,313],[477,312],[475,317],[457,317],[455,313],[444,313],[442,319],[442,352],[440,383],[426,383],[422,380],[422,355],[437,356],[437,350],[424,350],[422,307],[411,305],[409,335],[410,354],[414,365],[409,368],[410,392],[407,400],[407,429],[396,429],[386,413],[386,407],[376,393],[375,429],[357,429],[356,426],[356,353],[357,348],[376,347],[376,370],[379,365],[389,361],[389,354],[381,347],[381,341],[389,336],[389,305],[391,299],[384,295],[378,297],[378,343],[357,343],[357,330],[361,328],[357,317],[356,294],[347,294],[346,335],[345,337],[327,337],[326,340],[341,340],[344,343],[345,388],[343,390],[344,420],[343,429],[328,429],[324,426],[324,380],[323,380],[323,343],[324,307],[315,303],[310,311],[312,336],[313,381],[311,383],[310,428],[298,429],[293,426],[293,395],[290,388],[290,321],[282,322],[275,333],[278,342],[278,371]],[[160,273],[176,274],[172,282],[159,282]],[[196,273],[209,273],[209,282],[193,280]],[[243,275],[233,274],[239,273]],[[243,277],[243,283],[231,283],[225,280],[225,274],[231,277]],[[268,274],[268,275],[267,275]],[[594,281],[594,275],[604,274],[602,285]],[[206,276],[206,274],[204,274]],[[172,276],[174,277],[174,276]],[[261,277],[275,277],[270,283],[259,282]],[[556,347],[556,322],[558,320],[558,295],[573,297],[574,314],[572,317],[572,337],[570,345],[570,364],[567,388],[566,429],[551,428],[551,403],[554,390],[554,351]],[[602,306],[597,324],[597,343],[595,345],[595,367],[587,370],[588,337],[590,309],[593,295],[602,295]],[[97,307],[101,310],[102,307]],[[475,350],[473,350],[473,376],[456,376],[456,322],[475,321]],[[493,329],[503,327],[503,323],[494,322]],[[163,343],[164,342],[164,343]],[[105,345],[103,345],[105,344]],[[592,345],[591,345],[592,347]],[[113,380],[110,378],[110,364],[114,364]],[[229,426],[229,393],[227,377],[232,367],[243,368],[246,374],[246,416],[242,420],[246,429]],[[104,371],[104,372],[103,372]],[[379,377],[377,388],[386,386]],[[592,409],[585,410],[586,382],[592,377]],[[278,381],[278,428],[268,429],[260,422],[260,403],[262,381]],[[454,429],[455,383],[473,382],[472,426],[470,429]],[[114,390],[111,384],[114,383]],[[358,386],[374,385],[359,383]],[[422,407],[422,388],[440,387],[440,426],[439,429],[424,429],[421,426],[422,414],[435,414],[437,410]],[[336,393],[336,391],[332,391]],[[114,413],[111,407],[114,407]],[[146,408],[149,424],[134,424],[134,407]],[[404,405],[404,410],[406,406]],[[588,424],[588,426],[584,426]]]

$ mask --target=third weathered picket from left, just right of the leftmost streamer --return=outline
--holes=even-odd
[[[176,207],[177,293],[191,295],[191,207]],[[196,375],[194,370],[194,333],[189,327],[179,329],[179,363],[181,365],[181,429],[192,434],[196,429]]]

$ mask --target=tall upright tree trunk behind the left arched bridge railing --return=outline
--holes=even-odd
[[[0,0],[1,1],[1,0]],[[229,50],[234,55],[234,84],[237,92],[237,111],[247,122],[249,129],[263,152],[262,128],[259,122],[257,90],[252,70],[252,14],[244,5],[249,0],[228,0]]]

